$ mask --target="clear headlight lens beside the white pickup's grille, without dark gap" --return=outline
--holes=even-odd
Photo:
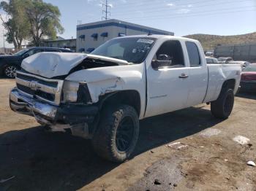
[[[76,102],[78,100],[79,82],[64,81],[63,101]]]

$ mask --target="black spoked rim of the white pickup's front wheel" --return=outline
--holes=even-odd
[[[135,124],[132,117],[124,117],[116,130],[116,148],[126,152],[132,144],[135,134]]]

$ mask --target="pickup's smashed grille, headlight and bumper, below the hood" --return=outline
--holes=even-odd
[[[90,125],[98,113],[86,83],[46,79],[17,71],[17,87],[10,92],[10,108],[34,116],[53,131],[70,129],[74,136],[90,138]]]

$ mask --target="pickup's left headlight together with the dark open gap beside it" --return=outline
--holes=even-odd
[[[91,102],[91,95],[86,82],[64,81],[63,101],[87,104]]]

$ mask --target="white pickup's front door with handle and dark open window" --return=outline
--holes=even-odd
[[[171,63],[147,69],[147,109],[145,117],[172,112],[187,106],[189,69],[184,61],[181,42],[168,40],[158,49],[153,60],[170,58]]]

